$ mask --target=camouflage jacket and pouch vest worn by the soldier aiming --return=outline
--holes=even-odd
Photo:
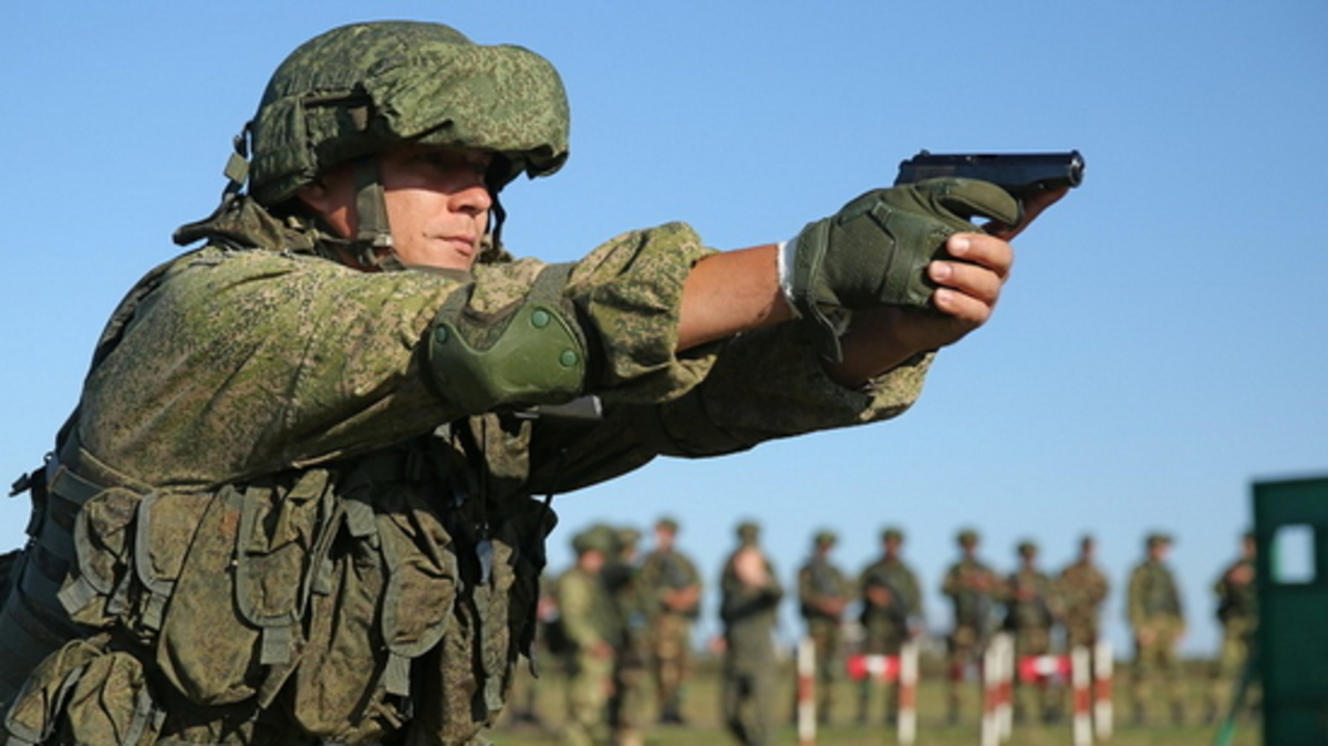
[[[595,336],[586,389],[602,419],[465,417],[421,373],[425,331],[458,292],[477,319],[519,301],[544,264],[356,272],[324,259],[316,231],[247,198],[181,239],[208,243],[116,309],[40,486],[33,531],[52,556],[25,567],[64,589],[58,601],[9,595],[7,611],[40,605],[52,629],[41,646],[0,624],[0,646],[29,652],[7,661],[0,705],[52,636],[94,637],[29,682],[11,718],[21,738],[52,727],[60,713],[42,702],[69,677],[96,686],[96,664],[106,681],[138,672],[141,689],[117,690],[135,713],[191,702],[145,721],[177,737],[220,738],[186,721],[248,702],[259,725],[243,727],[288,729],[288,742],[380,739],[418,694],[437,701],[417,701],[410,727],[465,741],[501,709],[534,634],[552,515],[531,495],[660,454],[884,419],[914,401],[930,362],[843,389],[797,324],[676,354],[683,280],[710,250],[675,223],[612,239],[571,271],[564,297]],[[441,677],[422,694],[421,665]],[[161,686],[174,692],[153,696]]]

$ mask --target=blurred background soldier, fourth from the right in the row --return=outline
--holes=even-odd
[[[1005,584],[1005,629],[1015,636],[1015,660],[1028,656],[1045,656],[1052,652],[1052,627],[1056,624],[1058,600],[1052,579],[1037,569],[1037,544],[1019,543],[1019,569],[1011,573]],[[1015,677],[1015,719],[1024,722],[1029,713],[1029,688]],[[1038,681],[1037,710],[1042,722],[1056,719],[1054,698],[1050,696],[1050,682]]]

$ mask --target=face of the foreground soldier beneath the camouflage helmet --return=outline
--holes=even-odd
[[[489,155],[477,150],[413,146],[378,158],[392,227],[393,251],[402,264],[470,269],[489,228],[493,196],[485,186]],[[360,224],[355,169],[343,166],[300,191],[344,238]]]

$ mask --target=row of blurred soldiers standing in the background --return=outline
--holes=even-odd
[[[685,722],[683,686],[703,581],[696,564],[675,546],[677,532],[677,522],[660,519],[652,551],[640,560],[641,534],[633,528],[594,526],[574,538],[576,563],[551,592],[560,617],[550,637],[563,641],[568,676],[564,743],[641,743],[651,684],[659,723]],[[761,550],[760,527],[741,523],[737,540],[720,576],[720,704],[725,726],[737,741],[760,746],[770,742],[782,682],[773,634],[784,588]],[[1054,654],[1058,638],[1065,652],[1086,648],[1092,653],[1101,637],[1101,609],[1110,591],[1097,564],[1093,536],[1081,538],[1077,558],[1056,575],[1040,568],[1038,547],[1029,540],[1016,547],[1017,567],[1008,575],[997,573],[980,558],[980,542],[971,528],[956,535],[960,556],[940,587],[954,617],[946,638],[946,713],[952,723],[961,718],[965,692],[976,690],[968,682],[993,633],[1012,637],[1016,660]],[[886,528],[880,534],[880,556],[857,579],[833,561],[837,543],[834,532],[818,531],[809,559],[797,572],[798,608],[815,650],[817,715],[822,725],[831,719],[835,689],[846,670],[850,609],[857,609],[861,623],[855,652],[863,656],[899,656],[903,645],[924,631],[922,584],[903,559],[904,532]],[[1178,584],[1166,564],[1171,543],[1170,536],[1149,535],[1145,559],[1129,575],[1126,616],[1134,640],[1130,701],[1139,725],[1147,722],[1149,704],[1155,700],[1170,702],[1174,722],[1185,719],[1177,657],[1185,616]],[[1252,641],[1252,536],[1244,536],[1240,556],[1223,571],[1214,591],[1224,634],[1211,666],[1210,721],[1224,706]],[[1044,722],[1060,718],[1068,694],[1058,690],[1060,673],[1058,668],[1042,669],[1027,681],[1016,676],[1016,722],[1035,713]],[[859,725],[866,725],[876,708],[883,709],[887,726],[898,723],[898,685],[869,674],[857,693]]]

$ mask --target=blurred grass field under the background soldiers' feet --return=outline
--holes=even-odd
[[[544,668],[554,669],[555,666],[546,665]],[[781,701],[788,702],[788,706],[781,709],[781,722],[778,723],[774,743],[793,746],[798,743],[798,737],[791,721],[794,693],[791,672],[782,678],[786,684]],[[1117,723],[1110,743],[1114,746],[1207,746],[1212,743],[1218,727],[1199,722],[1199,717],[1203,714],[1203,693],[1207,684],[1199,676],[1191,678],[1193,681],[1189,682],[1190,697],[1186,710],[1189,722],[1181,726],[1167,725],[1169,713],[1165,704],[1159,704],[1150,713],[1150,722],[1155,723],[1151,727],[1139,727],[1129,723],[1130,709],[1126,700],[1126,682],[1118,678],[1114,688]],[[522,682],[523,686],[527,684],[529,681]],[[563,719],[563,680],[556,670],[544,670],[540,680],[535,684],[534,692],[537,713],[542,721],[540,726],[499,723],[498,727],[487,734],[494,743],[499,746],[558,743],[558,726]],[[831,713],[830,725],[822,726],[818,730],[818,745],[880,746],[896,742],[892,729],[854,723],[857,696],[857,688],[851,682],[841,682],[837,686],[835,711]],[[718,677],[713,668],[703,666],[687,689],[684,715],[688,719],[688,725],[651,726],[645,731],[645,742],[659,746],[736,743],[722,727],[718,702]],[[946,723],[944,702],[944,685],[935,677],[930,681],[924,678],[918,697],[916,746],[976,746],[980,742],[976,685],[973,685],[972,696],[967,702],[971,705],[964,713],[967,717],[959,725]],[[883,711],[879,706],[869,714],[870,722],[879,723],[883,719]],[[653,722],[653,715],[651,722]],[[1057,725],[1017,725],[1008,743],[1013,746],[1068,746],[1072,741],[1070,723],[1069,719],[1065,719]],[[1242,722],[1231,743],[1234,746],[1262,743],[1258,723],[1252,721]]]

